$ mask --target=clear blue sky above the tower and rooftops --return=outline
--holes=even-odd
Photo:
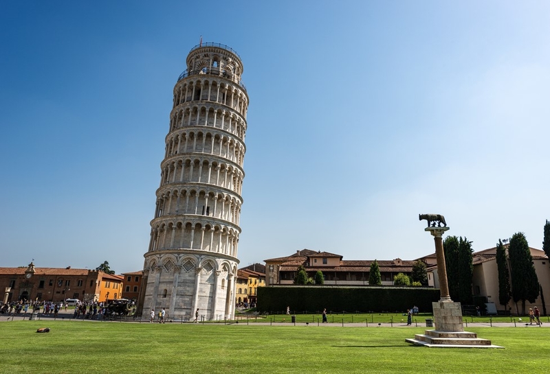
[[[241,266],[474,250],[550,219],[546,1],[3,1],[0,266],[142,269],[172,90],[223,43],[250,95]]]

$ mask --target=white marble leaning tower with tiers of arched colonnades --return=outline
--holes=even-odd
[[[241,58],[201,43],[174,86],[160,165],[142,314],[170,319],[234,317],[248,94]]]

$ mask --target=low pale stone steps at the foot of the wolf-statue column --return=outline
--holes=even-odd
[[[491,340],[477,338],[477,334],[467,331],[426,330],[425,334],[417,334],[414,339],[405,339],[405,341],[425,347],[503,348],[491,344]]]

